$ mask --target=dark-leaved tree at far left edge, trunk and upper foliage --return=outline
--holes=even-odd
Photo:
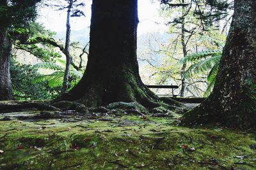
[[[10,79],[10,55],[12,40],[9,34],[14,28],[26,27],[36,17],[39,0],[0,1],[0,100],[12,99]]]

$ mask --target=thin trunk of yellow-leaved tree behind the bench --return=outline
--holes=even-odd
[[[184,4],[185,1],[182,0],[182,3]],[[184,6],[182,7],[182,16],[185,14],[186,10],[184,8]],[[183,57],[187,56],[187,46],[185,43],[185,17],[182,18],[181,20],[182,24],[181,24],[181,44],[182,44],[182,52],[183,52]],[[185,69],[186,69],[186,62],[182,65],[181,68],[181,89],[180,89],[180,97],[184,97],[186,94],[186,88],[187,88],[187,84],[186,84],[186,79],[184,77],[184,73],[185,73]]]

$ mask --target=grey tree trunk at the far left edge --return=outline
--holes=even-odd
[[[12,99],[12,81],[10,77],[10,55],[12,42],[7,29],[0,28],[0,101]]]

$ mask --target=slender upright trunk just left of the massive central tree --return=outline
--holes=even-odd
[[[63,87],[62,93],[67,93],[68,90],[68,77],[70,74],[70,52],[69,52],[69,45],[70,45],[70,12],[73,6],[73,0],[68,1],[68,11],[67,11],[67,22],[66,22],[66,41],[65,41],[65,56],[66,56],[66,67],[65,67],[65,74],[63,78]]]

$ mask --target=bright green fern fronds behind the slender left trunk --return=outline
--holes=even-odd
[[[57,62],[40,62],[33,66],[33,69],[48,69],[51,70],[51,74],[45,74],[36,76],[31,83],[39,83],[47,81],[49,87],[62,87],[63,77],[65,74],[65,61],[56,59]],[[70,77],[68,78],[68,87],[74,87],[78,81],[82,78],[83,73],[77,71],[74,67],[70,66]]]

